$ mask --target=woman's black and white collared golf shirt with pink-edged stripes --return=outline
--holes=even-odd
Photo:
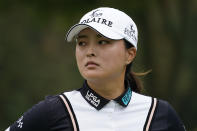
[[[62,94],[71,110],[59,95],[46,97],[6,131],[73,131],[69,112],[80,131],[146,131],[147,125],[149,131],[185,131],[168,102],[135,93],[125,85],[121,96],[107,100],[85,81],[82,88]]]

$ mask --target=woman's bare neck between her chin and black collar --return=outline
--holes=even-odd
[[[87,81],[91,89],[100,96],[112,100],[120,96],[124,91],[124,77],[113,80]]]

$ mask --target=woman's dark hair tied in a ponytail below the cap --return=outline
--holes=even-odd
[[[129,43],[125,39],[124,39],[124,42],[125,42],[126,49],[134,47],[131,43]],[[129,82],[129,84],[134,92],[141,93],[141,91],[143,89],[143,84],[142,84],[142,81],[140,80],[139,76],[146,75],[151,70],[149,70],[145,73],[135,73],[135,72],[131,71],[132,64],[133,64],[133,62],[131,62],[130,64],[128,64],[126,66],[125,80]]]

